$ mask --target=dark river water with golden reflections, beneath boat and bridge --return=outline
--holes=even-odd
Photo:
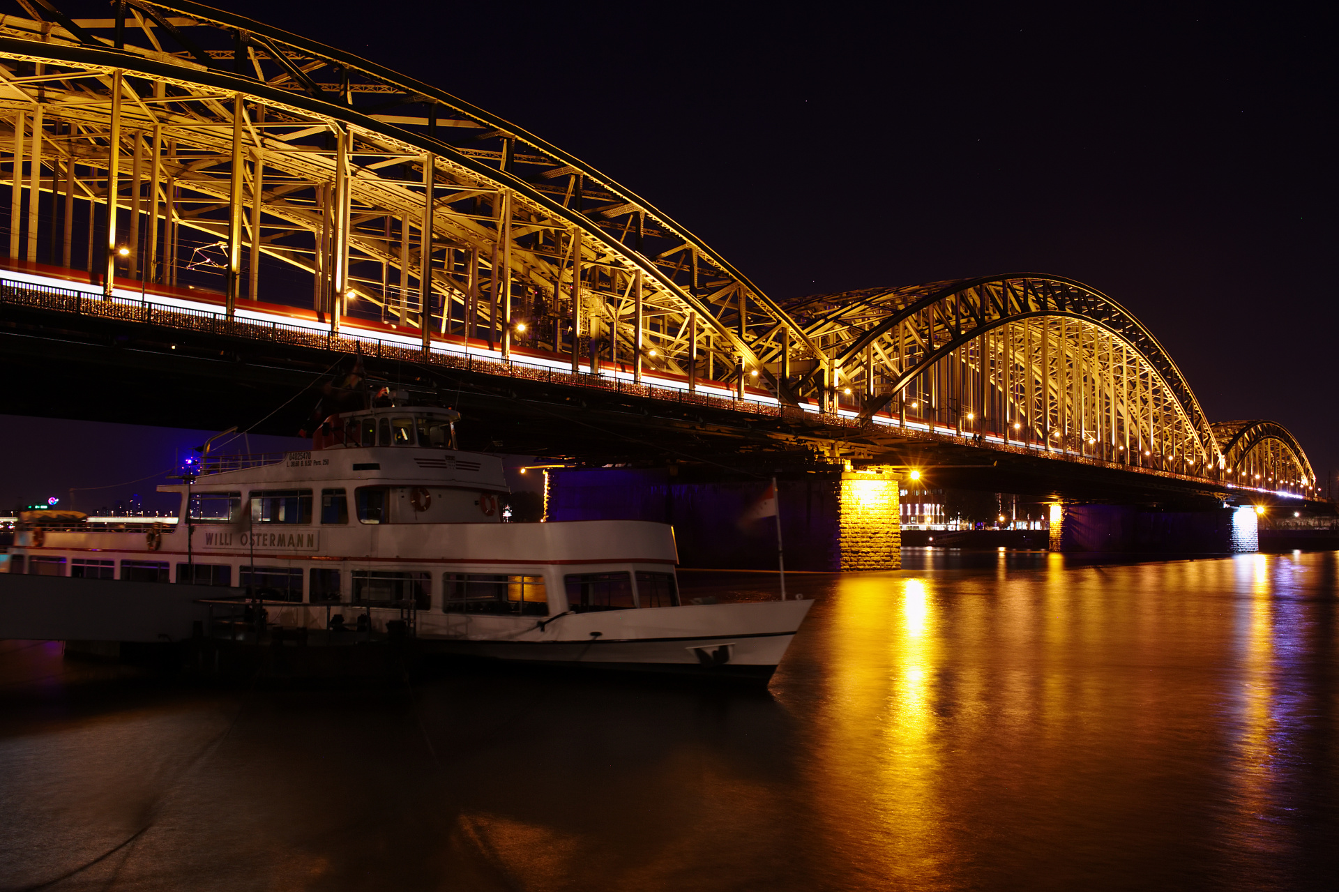
[[[0,888],[1332,888],[1339,554],[943,554],[787,577],[817,603],[767,691],[3,642]]]

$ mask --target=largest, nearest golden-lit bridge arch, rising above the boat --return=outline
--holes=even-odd
[[[25,8],[43,20],[0,29],[13,260],[39,260],[39,213],[87,204],[90,273],[167,287],[212,273],[229,312],[291,296],[296,272],[332,328],[391,319],[424,348],[469,335],[576,366],[593,343],[637,376],[651,356],[687,372],[695,355],[740,388],[758,374],[774,390],[781,351],[818,358],[657,208],[437,87],[186,0],[129,0],[114,19],[79,0]],[[71,267],[63,241],[56,265]]]

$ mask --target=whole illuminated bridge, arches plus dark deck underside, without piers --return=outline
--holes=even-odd
[[[295,433],[316,396],[284,400],[360,355],[465,408],[467,445],[556,462],[1318,496],[1285,429],[1210,422],[1078,281],[775,300],[589,165],[372,62],[194,3],[12,7],[0,343],[28,362],[7,411],[245,427],[280,406],[256,430]]]

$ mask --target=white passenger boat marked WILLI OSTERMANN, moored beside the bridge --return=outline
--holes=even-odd
[[[454,449],[455,418],[366,408],[311,450],[206,455],[158,488],[174,525],[35,526],[11,572],[241,587],[287,628],[408,617],[430,652],[771,676],[813,601],[682,603],[665,524],[503,522],[502,461]]]

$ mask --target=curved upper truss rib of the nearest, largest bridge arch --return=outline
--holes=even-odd
[[[135,29],[134,21],[127,20],[131,28],[125,32],[126,39],[138,39],[142,36],[139,31],[143,31],[154,43],[151,48],[129,43],[119,51],[106,46],[88,46],[90,33],[94,40],[111,42],[107,20],[75,20],[82,23],[80,31],[71,33],[60,23],[8,19],[8,27],[0,28],[0,32],[13,38],[0,38],[0,43],[24,43],[27,47],[3,46],[0,55],[48,66],[100,66],[103,74],[121,68],[129,76],[159,79],[182,87],[218,87],[225,95],[242,92],[248,102],[287,106],[293,114],[324,118],[328,125],[355,130],[360,137],[376,134],[383,141],[404,146],[412,154],[437,155],[439,169],[455,166],[463,175],[513,196],[518,209],[548,218],[530,220],[529,224],[568,237],[580,232],[581,263],[586,269],[611,267],[620,277],[632,276],[640,269],[644,301],[652,307],[659,301],[661,312],[676,313],[678,320],[672,325],[676,331],[686,329],[688,313],[695,313],[700,331],[710,335],[704,339],[706,350],[699,350],[699,354],[704,356],[714,351],[718,366],[728,368],[742,363],[763,370],[763,378],[770,378],[765,364],[777,359],[782,350],[775,338],[781,329],[789,329],[787,340],[795,350],[818,358],[815,346],[807,342],[779,307],[706,244],[608,177],[514,125],[434,87],[261,23],[191,3],[150,4],[137,0],[134,7],[146,16],[138,17],[139,29]],[[167,23],[175,24],[171,33],[163,31]],[[182,43],[186,32],[190,40]],[[80,38],[84,38],[83,43]],[[163,51],[173,40],[181,44],[182,52],[174,55]],[[46,43],[35,46],[35,42]],[[204,56],[197,52],[198,47],[205,48]],[[245,47],[244,55],[238,55],[238,47]],[[228,67],[237,71],[220,70],[229,55],[233,56],[233,66]],[[217,64],[210,67],[210,60]],[[328,90],[331,86],[339,87],[341,92],[332,95]],[[390,98],[382,95],[387,92]],[[380,107],[394,106],[399,111],[416,106],[426,115],[419,121],[383,114],[380,117],[387,121],[379,121],[372,117],[378,114],[375,108],[360,113],[353,107],[355,94],[378,94]],[[435,138],[438,122],[453,137],[469,135],[473,145],[453,145]],[[226,122],[220,121],[218,125]],[[501,169],[481,159],[497,159]],[[568,185],[564,198],[558,201],[553,193],[558,192],[557,186],[561,186],[564,177]],[[362,185],[355,185],[355,193],[360,188]],[[593,198],[601,205],[600,210],[584,210],[582,198]],[[520,228],[516,237],[524,237],[526,232]],[[636,233],[631,245],[627,244],[629,232]],[[683,254],[682,261],[674,258],[676,252]],[[510,254],[522,265],[526,260],[532,265],[534,261],[534,254],[528,257],[520,245],[499,253]],[[386,257],[376,260],[390,263]],[[560,283],[564,273],[561,268],[552,271],[538,265],[529,275],[525,269],[517,269],[522,279],[549,279],[540,275],[548,272],[556,272],[552,280],[554,284]],[[719,289],[720,285],[726,285],[730,293],[726,299],[711,300],[707,292]],[[453,289],[442,284],[438,291]],[[639,339],[633,335],[629,340]],[[777,386],[775,382],[773,384]]]

